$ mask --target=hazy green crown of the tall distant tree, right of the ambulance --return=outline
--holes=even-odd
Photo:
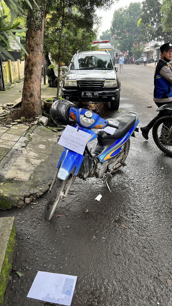
[[[129,50],[136,41],[139,41],[140,29],[137,22],[141,17],[141,4],[130,3],[125,8],[115,10],[112,20],[111,32],[118,41],[121,51]]]

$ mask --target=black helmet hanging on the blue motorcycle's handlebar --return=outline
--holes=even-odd
[[[72,119],[69,119],[69,109],[75,104],[67,100],[56,100],[50,108],[50,116],[56,124],[67,125],[72,123]]]

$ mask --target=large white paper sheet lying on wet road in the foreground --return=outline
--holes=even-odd
[[[27,297],[70,306],[77,276],[38,271]]]

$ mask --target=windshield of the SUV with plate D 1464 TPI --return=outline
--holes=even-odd
[[[113,69],[111,58],[108,54],[76,54],[71,70],[79,69]]]

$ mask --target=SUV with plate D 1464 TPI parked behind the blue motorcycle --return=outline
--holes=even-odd
[[[121,84],[108,51],[78,52],[62,83],[62,98],[74,101],[109,101],[119,108]]]

